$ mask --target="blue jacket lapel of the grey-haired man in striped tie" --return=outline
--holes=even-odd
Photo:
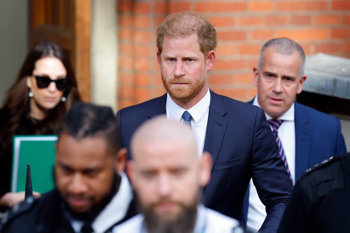
[[[295,122],[295,179],[299,179],[304,170],[309,168],[309,152],[311,145],[311,129],[308,117],[302,106],[294,103]]]

